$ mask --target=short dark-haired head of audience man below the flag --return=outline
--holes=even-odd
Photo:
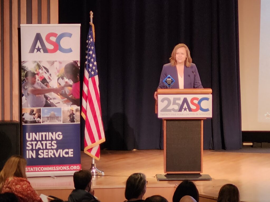
[[[75,189],[89,191],[91,189],[92,175],[89,170],[79,170],[73,175]]]

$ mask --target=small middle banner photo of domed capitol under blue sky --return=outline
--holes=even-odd
[[[62,123],[60,107],[42,108],[42,123]]]

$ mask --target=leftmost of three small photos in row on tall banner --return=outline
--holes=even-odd
[[[23,108],[22,109],[22,124],[41,123],[40,108]]]

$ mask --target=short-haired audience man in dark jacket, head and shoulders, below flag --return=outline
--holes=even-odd
[[[75,189],[70,193],[68,201],[70,202],[98,202],[98,200],[89,193],[91,190],[92,175],[88,170],[80,170],[74,173],[73,182]]]

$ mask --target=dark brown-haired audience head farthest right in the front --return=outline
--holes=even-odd
[[[240,202],[239,191],[233,184],[224,184],[218,193],[217,202]]]

